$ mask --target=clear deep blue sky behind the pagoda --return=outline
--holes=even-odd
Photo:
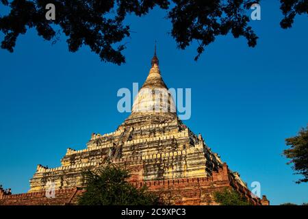
[[[1,10],[0,10],[1,12]],[[257,47],[219,37],[194,62],[196,44],[176,48],[165,12],[129,17],[131,38],[122,66],[100,62],[86,47],[69,53],[65,38],[51,42],[30,30],[14,53],[0,49],[0,183],[27,192],[37,164],[60,166],[68,147],[84,149],[92,132],[109,133],[129,114],[116,109],[119,88],[132,89],[149,72],[154,41],[167,86],[192,88],[192,117],[201,133],[244,181],[261,183],[274,205],[308,202],[308,185],[296,184],[285,138],[308,123],[308,21],[298,16],[281,29],[279,1],[261,3],[252,25]],[[0,34],[3,38],[3,34]]]

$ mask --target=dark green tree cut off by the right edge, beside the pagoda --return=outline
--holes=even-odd
[[[303,183],[308,181],[308,126],[306,129],[301,129],[298,136],[287,138],[285,140],[290,149],[283,151],[283,155],[291,159],[287,164],[293,164],[292,169],[295,174],[303,175],[303,179],[299,179],[296,183]]]

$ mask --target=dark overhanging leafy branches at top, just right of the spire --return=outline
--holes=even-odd
[[[259,1],[185,1],[175,0],[175,7],[168,13],[172,21],[171,35],[181,49],[197,40],[198,48],[195,60],[205,47],[214,42],[216,36],[231,32],[234,38],[244,36],[249,47],[257,44],[257,35],[248,26],[246,11]]]

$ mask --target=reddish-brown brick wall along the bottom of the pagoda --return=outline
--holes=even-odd
[[[136,173],[141,168],[136,169]],[[214,201],[214,192],[224,188],[234,188],[244,194],[254,205],[269,205],[266,196],[262,199],[254,197],[251,191],[231,177],[227,164],[211,177],[182,178],[162,181],[138,181],[132,176],[130,182],[137,188],[146,185],[150,192],[162,196],[171,205],[217,205]],[[74,205],[82,188],[56,190],[55,198],[47,198],[45,192],[29,192],[25,194],[1,195],[0,205]]]

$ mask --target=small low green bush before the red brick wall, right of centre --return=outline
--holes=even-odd
[[[221,192],[215,192],[214,198],[220,205],[252,205],[247,198],[233,189],[224,188]]]

